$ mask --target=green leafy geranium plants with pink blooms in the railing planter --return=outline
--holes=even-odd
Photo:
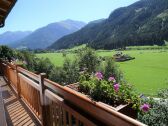
[[[139,108],[139,97],[131,85],[120,84],[119,91],[116,92],[114,89],[116,82],[109,82],[107,79],[99,80],[94,75],[88,80],[86,78],[85,74],[80,76],[79,90],[90,95],[94,100],[113,106],[131,104],[133,108]]]

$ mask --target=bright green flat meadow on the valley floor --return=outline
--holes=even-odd
[[[114,51],[97,51],[99,56],[112,56]],[[118,63],[126,80],[135,86],[139,93],[155,95],[159,89],[168,88],[168,51],[163,50],[129,50],[123,51],[135,57],[135,60]],[[62,53],[37,54],[49,58],[56,66],[64,62]],[[67,54],[70,59],[75,54]]]

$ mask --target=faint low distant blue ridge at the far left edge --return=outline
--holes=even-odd
[[[16,32],[5,32],[0,34],[0,45],[10,45],[11,43],[23,39],[28,36],[31,31],[16,31]]]

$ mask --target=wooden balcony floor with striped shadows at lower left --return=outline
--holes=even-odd
[[[27,106],[17,99],[15,92],[7,85],[2,76],[0,76],[0,87],[8,126],[40,125]]]

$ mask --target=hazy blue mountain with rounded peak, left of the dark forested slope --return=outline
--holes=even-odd
[[[27,37],[19,40],[11,46],[14,48],[44,49],[51,45],[54,41],[71,34],[85,25],[84,22],[65,20],[61,22],[51,23],[45,27],[39,28]]]

